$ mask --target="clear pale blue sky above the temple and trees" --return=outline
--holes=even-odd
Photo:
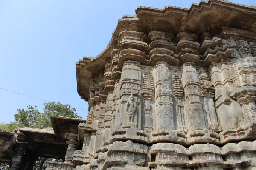
[[[230,0],[252,5],[255,0]],[[0,88],[88,109],[76,89],[75,63],[98,55],[123,14],[137,6],[189,8],[194,0],[0,0]],[[0,90],[0,122],[42,100]],[[87,118],[87,111],[76,109]]]

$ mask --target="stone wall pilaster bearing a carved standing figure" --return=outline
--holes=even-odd
[[[141,129],[140,63],[125,61],[121,74],[121,100],[119,103],[119,128]]]

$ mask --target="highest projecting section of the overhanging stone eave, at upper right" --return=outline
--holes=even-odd
[[[230,16],[225,16],[227,19],[222,20],[224,14],[216,12],[215,10],[212,11],[212,7],[220,11],[229,10],[232,12],[226,12],[230,14]],[[198,13],[204,14],[203,17]],[[188,31],[198,34],[202,31],[211,31],[219,26],[256,31],[255,22],[253,22],[252,19],[256,17],[255,7],[222,0],[200,1],[198,4],[192,3],[189,9],[175,6],[165,6],[163,9],[140,6],[136,9],[136,14],[140,22],[147,27],[149,31],[171,31],[172,33]],[[170,17],[173,19],[170,20]],[[209,19],[206,22],[205,19],[207,18]],[[204,21],[204,23],[198,24],[198,22],[202,21]],[[246,23],[247,28],[244,28],[244,23]],[[164,24],[167,25],[166,28],[163,26]]]

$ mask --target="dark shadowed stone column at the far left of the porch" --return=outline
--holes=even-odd
[[[23,161],[23,154],[26,152],[28,143],[27,142],[17,142],[16,144],[16,155],[12,157],[11,170],[18,170]]]

